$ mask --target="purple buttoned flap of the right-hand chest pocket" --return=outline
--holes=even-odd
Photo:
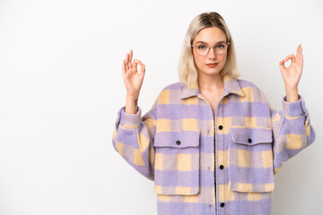
[[[230,133],[232,141],[240,144],[255,145],[273,142],[272,131],[266,128],[237,127],[230,128]]]

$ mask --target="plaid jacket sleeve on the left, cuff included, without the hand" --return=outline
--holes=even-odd
[[[142,117],[138,107],[136,114],[128,114],[125,107],[118,111],[116,128],[112,134],[115,150],[145,177],[154,178],[153,139],[156,133],[157,99],[153,107]]]

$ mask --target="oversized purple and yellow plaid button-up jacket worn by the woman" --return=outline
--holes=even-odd
[[[154,180],[158,214],[271,214],[274,175],[315,139],[304,101],[283,111],[247,81],[223,77],[215,111],[195,88],[164,88],[143,117],[118,111],[112,142]],[[215,183],[216,179],[216,183]]]

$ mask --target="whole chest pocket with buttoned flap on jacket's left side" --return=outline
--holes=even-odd
[[[193,195],[199,191],[200,132],[156,133],[154,192]]]

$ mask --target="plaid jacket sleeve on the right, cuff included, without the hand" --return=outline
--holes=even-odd
[[[274,174],[282,168],[284,161],[297,155],[315,140],[309,112],[301,95],[299,98],[298,101],[287,102],[284,96],[283,111],[270,107],[274,133]]]

